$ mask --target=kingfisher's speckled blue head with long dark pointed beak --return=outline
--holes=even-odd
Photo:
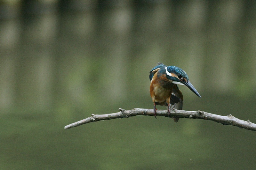
[[[201,98],[195,87],[189,82],[187,73],[176,66],[165,66],[166,77],[174,84],[186,85],[192,92]]]

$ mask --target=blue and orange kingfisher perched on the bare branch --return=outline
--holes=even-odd
[[[149,91],[154,103],[155,118],[156,105],[167,106],[168,115],[173,108],[182,109],[183,95],[177,85],[186,85],[198,97],[202,98],[189,82],[187,73],[179,67],[158,63],[149,72],[149,79],[151,81]],[[179,117],[174,117],[173,120],[178,122]]]

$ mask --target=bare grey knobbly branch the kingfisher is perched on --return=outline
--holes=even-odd
[[[81,121],[78,121],[78,122],[75,122],[75,123],[65,126],[65,129],[69,129],[69,128],[73,128],[76,126],[80,126],[85,123],[97,122],[97,121],[101,121],[101,120],[129,118],[131,116],[137,116],[137,115],[154,116],[153,109],[134,108],[132,110],[124,110],[124,109],[119,108],[119,110],[120,110],[120,112],[110,113],[110,114],[105,114],[105,115],[92,114],[91,117],[88,117],[84,120],[81,120]],[[156,115],[168,117],[167,110],[157,110]],[[203,111],[196,112],[196,111],[172,109],[169,117],[211,120],[214,122],[222,123],[223,125],[232,125],[232,126],[237,126],[239,128],[256,131],[255,123],[252,123],[249,120],[243,121],[243,120],[237,119],[236,117],[234,117],[232,115],[221,116],[221,115],[215,115],[215,114],[211,114],[211,113],[207,113],[207,112],[203,112]]]

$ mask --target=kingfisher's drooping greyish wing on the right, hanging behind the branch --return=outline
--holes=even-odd
[[[170,109],[178,109],[178,110],[182,110],[182,104],[183,104],[183,95],[180,91],[180,89],[178,88],[177,84],[173,85],[172,88],[172,96],[170,99],[170,103],[171,103],[171,107]],[[179,117],[174,117],[174,122],[178,122]]]

